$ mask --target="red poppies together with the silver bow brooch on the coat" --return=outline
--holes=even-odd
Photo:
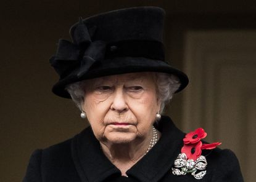
[[[173,175],[180,176],[191,173],[197,180],[205,176],[207,161],[205,156],[201,156],[202,150],[214,149],[221,144],[220,142],[203,144],[201,139],[206,136],[207,133],[204,129],[199,128],[183,138],[184,145],[181,148],[181,154],[175,160],[174,167],[171,168]]]

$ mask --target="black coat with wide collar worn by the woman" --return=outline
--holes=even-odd
[[[174,160],[183,146],[184,133],[169,117],[162,117],[157,129],[162,137],[141,160],[121,176],[101,151],[99,141],[90,127],[70,140],[47,149],[36,150],[28,164],[23,182],[86,182],[86,181],[243,181],[234,153],[228,149],[213,149],[207,159],[207,173],[201,180],[191,174],[171,173]]]

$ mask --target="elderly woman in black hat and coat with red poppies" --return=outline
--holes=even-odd
[[[188,77],[164,61],[164,12],[122,9],[81,20],[59,41],[53,92],[72,98],[90,126],[36,150],[23,181],[242,181],[236,156],[184,134],[161,116]]]

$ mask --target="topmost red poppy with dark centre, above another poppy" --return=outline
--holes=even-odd
[[[199,128],[194,130],[194,132],[188,133],[185,138],[183,138],[184,144],[189,144],[189,143],[197,143],[199,142],[202,138],[205,138],[207,133],[204,132],[204,129]]]

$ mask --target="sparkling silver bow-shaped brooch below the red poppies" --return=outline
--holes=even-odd
[[[188,159],[185,153],[179,154],[174,162],[174,167],[171,168],[173,175],[186,175],[191,173],[194,178],[200,180],[206,174],[207,161],[204,156],[199,156],[196,161]]]

